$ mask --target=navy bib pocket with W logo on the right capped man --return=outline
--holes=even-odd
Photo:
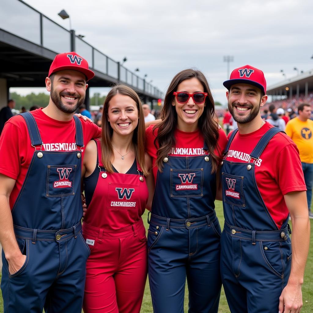
[[[244,176],[234,176],[222,172],[223,201],[237,207],[244,207]]]

